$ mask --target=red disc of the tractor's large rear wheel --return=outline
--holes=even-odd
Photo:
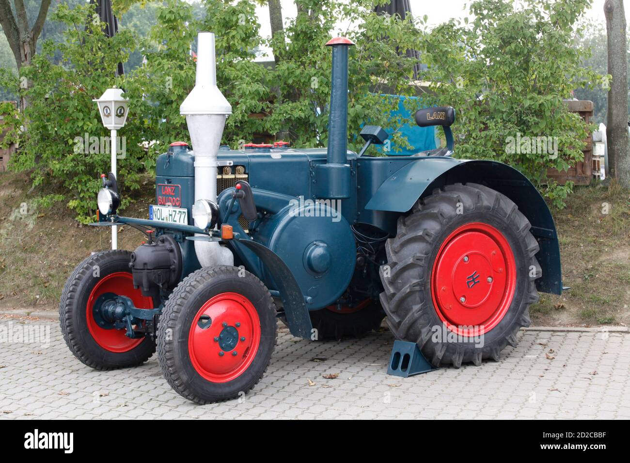
[[[431,275],[433,306],[451,331],[490,331],[510,308],[516,288],[514,254],[505,236],[480,222],[444,240]]]

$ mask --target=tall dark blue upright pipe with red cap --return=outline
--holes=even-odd
[[[337,37],[326,43],[333,47],[333,71],[328,114],[326,163],[315,168],[315,196],[326,199],[350,197],[348,164],[348,48],[352,40]]]

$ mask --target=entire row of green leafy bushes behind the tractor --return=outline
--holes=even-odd
[[[14,75],[0,78],[0,86],[26,92],[32,101],[26,113],[15,116],[31,125],[13,168],[32,171],[36,186],[62,193],[77,219],[91,220],[98,174],[109,166],[108,149],[92,148],[91,137],[108,136],[92,100],[117,85],[125,89],[130,107],[127,125],[119,132],[126,144],[118,176],[126,191],[140,188],[140,174],[154,169],[157,154],[174,140],[188,140],[179,106],[195,83],[190,51],[202,30],[216,33],[217,81],[233,111],[223,142],[231,147],[285,129],[294,146],[326,146],[331,53],[324,44],[346,35],[357,44],[350,49],[350,149],[362,144],[357,134],[366,122],[382,125],[396,144],[405,146],[397,129],[410,121],[390,117],[399,100],[389,95],[419,94],[413,81],[416,63],[405,55],[418,49],[428,65],[421,79],[431,83],[425,102],[457,108],[459,156],[505,161],[537,185],[544,183],[547,167],[566,168],[580,158],[579,140],[585,139],[586,129],[564,109],[562,99],[570,96],[571,82],[596,83],[599,78],[580,69],[581,52],[571,47],[572,25],[587,0],[529,0],[519,10],[511,2],[478,0],[471,6],[473,23],[451,22],[433,31],[425,30],[425,18],[414,22],[376,14],[370,0],[296,3],[297,16],[286,21],[273,43],[259,37],[253,0],[115,3],[123,20],[146,25],[154,15],[156,24],[148,34],[121,27],[113,39],[101,33],[98,23],[89,23],[89,33],[84,31],[85,19],[91,17],[86,4],[60,5],[52,20],[64,25],[64,38],[43,42],[42,53],[25,69],[33,87],[20,89]],[[143,7],[137,14],[135,9]],[[149,8],[154,9],[145,13]],[[335,30],[340,22],[353,26]],[[277,50],[277,66],[255,62],[261,45]],[[116,63],[134,54],[144,55],[146,64],[115,77]],[[406,104],[417,109],[411,100]],[[19,127],[20,120],[15,124]],[[558,158],[507,154],[506,139],[517,133],[557,136]],[[77,143],[85,134],[88,152]],[[545,191],[561,204],[567,190],[552,185]]]

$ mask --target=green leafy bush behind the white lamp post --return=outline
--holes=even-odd
[[[135,47],[135,38],[129,31],[105,38],[98,20],[88,21],[85,31],[88,17],[92,14],[87,6],[71,9],[60,5],[54,20],[67,25],[64,43],[45,41],[32,65],[22,69],[23,76],[34,83],[31,88],[19,88],[18,81],[13,82],[16,91],[26,93],[30,101],[23,114],[29,130],[20,140],[13,167],[32,170],[33,186],[42,191],[60,186],[66,193],[68,207],[76,210],[83,221],[95,213],[98,173],[106,171],[110,159],[105,145],[109,134],[101,125],[92,100],[99,98],[103,89],[123,85],[113,71],[105,70],[115,69],[118,62],[127,59],[128,50]],[[60,64],[50,60],[55,52],[63,57]],[[138,188],[139,174],[152,166],[152,158],[142,149],[143,123],[137,114],[127,121],[126,152],[119,169],[127,189]],[[19,127],[20,121],[15,125]],[[88,146],[91,145],[88,152],[85,144],[78,142],[86,136]]]

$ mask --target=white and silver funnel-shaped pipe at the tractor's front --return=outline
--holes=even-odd
[[[195,153],[195,201],[216,201],[219,146],[226,118],[232,114],[232,106],[217,87],[212,32],[200,32],[197,36],[195,88],[181,103],[180,114],[186,117],[188,134]],[[219,243],[195,241],[195,252],[199,263],[204,267],[234,265],[232,252]]]

